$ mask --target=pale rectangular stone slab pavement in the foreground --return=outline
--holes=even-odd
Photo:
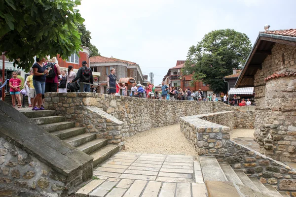
[[[119,152],[94,177],[76,197],[206,197],[193,156]]]

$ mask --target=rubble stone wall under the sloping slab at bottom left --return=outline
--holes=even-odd
[[[39,197],[50,193],[66,196],[68,189],[62,177],[48,165],[0,137],[0,196],[21,194]]]

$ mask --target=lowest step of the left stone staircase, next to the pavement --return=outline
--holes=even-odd
[[[118,145],[108,144],[107,146],[104,146],[103,148],[100,148],[99,150],[91,153],[89,156],[94,158],[93,164],[95,167],[117,153],[118,150]]]

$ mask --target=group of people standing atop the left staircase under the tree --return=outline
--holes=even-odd
[[[13,107],[24,107],[23,96],[28,96],[29,107],[32,107],[32,110],[44,110],[46,92],[78,92],[80,87],[77,81],[93,84],[92,71],[86,66],[86,61],[82,61],[77,74],[73,71],[73,66],[68,66],[67,71],[61,69],[56,62],[55,57],[49,60],[36,58],[26,81],[21,76],[21,71],[12,73],[12,78],[9,79],[9,94]],[[83,84],[84,92],[90,92],[90,84]],[[18,102],[17,106],[15,99]]]

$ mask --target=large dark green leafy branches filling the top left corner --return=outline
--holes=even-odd
[[[34,56],[60,54],[67,59],[81,49],[75,9],[81,0],[0,0],[0,51],[14,65],[29,69]]]

